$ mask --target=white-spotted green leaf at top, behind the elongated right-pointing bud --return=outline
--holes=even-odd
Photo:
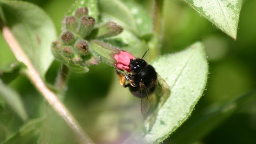
[[[151,33],[152,20],[142,7],[136,3],[99,0],[99,10],[103,18],[117,21],[118,24],[138,36]]]

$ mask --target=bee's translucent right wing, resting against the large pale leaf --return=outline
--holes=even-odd
[[[164,81],[164,79],[157,74],[158,83],[156,86],[155,94],[159,97],[158,104],[163,105],[167,98],[170,96],[171,91],[169,85]]]

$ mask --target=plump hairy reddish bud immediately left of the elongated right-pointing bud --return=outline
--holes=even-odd
[[[79,20],[79,27],[77,29],[77,33],[81,35],[83,38],[89,34],[94,26],[95,19],[92,17],[82,17]]]

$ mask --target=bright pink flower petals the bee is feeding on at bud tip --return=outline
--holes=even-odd
[[[124,52],[121,51],[121,53],[115,54],[114,55],[115,60],[117,61],[116,67],[120,70],[126,70],[129,73],[131,72],[130,70],[130,59],[135,59],[133,55],[129,52]]]

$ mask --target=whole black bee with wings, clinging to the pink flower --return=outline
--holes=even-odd
[[[119,76],[119,83],[123,87],[129,87],[135,97],[141,98],[141,113],[142,116],[146,117],[159,102],[163,103],[166,100],[170,95],[170,89],[166,82],[156,73],[155,68],[148,65],[143,60],[143,57],[130,60],[129,67],[132,74],[123,75],[118,70],[116,73]],[[125,84],[125,81],[128,83]]]

